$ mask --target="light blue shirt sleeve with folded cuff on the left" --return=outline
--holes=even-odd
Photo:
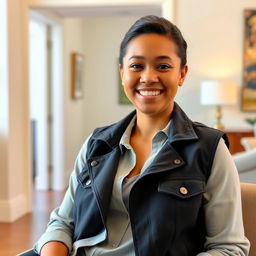
[[[89,138],[90,136],[83,144],[77,156],[74,170],[69,179],[69,186],[61,205],[51,212],[47,229],[34,246],[34,249],[38,254],[40,254],[42,247],[50,241],[62,242],[68,247],[69,252],[72,250],[74,195],[78,185],[77,176],[81,173],[85,165],[85,156]]]

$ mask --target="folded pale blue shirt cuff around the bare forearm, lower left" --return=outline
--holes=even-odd
[[[34,249],[36,253],[40,254],[42,247],[48,242],[61,242],[68,247],[69,253],[72,250],[72,238],[64,231],[54,230],[53,232],[44,233],[38,242],[35,244]]]

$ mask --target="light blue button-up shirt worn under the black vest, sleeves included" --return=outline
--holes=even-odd
[[[113,185],[110,212],[107,217],[108,236],[106,231],[103,231],[95,237],[72,244],[72,207],[78,185],[76,178],[86,161],[84,156],[86,155],[88,138],[77,157],[64,200],[61,206],[52,212],[46,232],[35,245],[37,252],[40,252],[42,246],[49,241],[61,241],[69,248],[70,255],[75,255],[78,247],[84,247],[84,255],[86,256],[135,255],[129,215],[125,205],[129,190],[136,179],[135,177],[134,180],[128,180],[130,184],[126,186],[126,176],[136,164],[136,155],[129,143],[134,122],[135,118],[120,140],[122,155]],[[141,173],[150,165],[168,140],[169,125],[170,122],[165,129],[154,136],[151,155],[145,162]],[[205,248],[207,248],[207,252],[202,252],[198,256],[247,255],[249,242],[244,236],[239,188],[240,182],[236,167],[223,139],[221,139],[204,194],[207,229]]]

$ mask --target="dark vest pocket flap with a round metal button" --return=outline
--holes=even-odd
[[[158,192],[189,198],[205,192],[205,182],[199,180],[165,180],[158,184]]]

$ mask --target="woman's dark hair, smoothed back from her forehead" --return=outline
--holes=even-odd
[[[154,15],[140,18],[127,31],[120,45],[119,64],[123,66],[123,58],[133,38],[151,33],[165,35],[176,43],[177,55],[181,59],[181,68],[183,68],[187,63],[187,43],[185,39],[177,26],[165,18]]]

